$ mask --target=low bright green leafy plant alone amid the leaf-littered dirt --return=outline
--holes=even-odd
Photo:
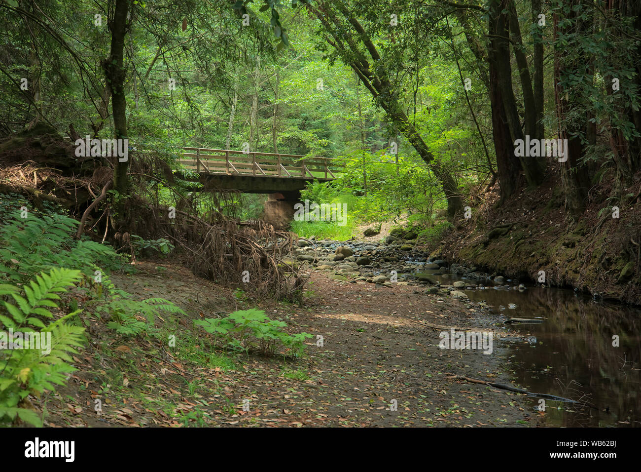
[[[278,345],[285,347],[285,352],[296,357],[303,353],[304,340],[311,338],[308,333],[288,335],[283,331],[287,323],[271,320],[265,311],[238,310],[224,318],[207,318],[195,320],[194,324],[202,326],[215,337],[222,337],[233,348],[242,348],[246,352],[256,347],[262,354],[273,355]]]

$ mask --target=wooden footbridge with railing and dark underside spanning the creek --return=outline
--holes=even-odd
[[[245,193],[300,191],[307,182],[336,179],[332,159],[269,152],[180,148],[178,162],[209,188]],[[336,170],[336,168],[334,168]]]

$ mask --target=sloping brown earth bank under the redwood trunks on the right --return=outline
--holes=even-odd
[[[500,205],[494,189],[429,249],[492,275],[538,281],[542,270],[546,284],[641,304],[641,176],[633,180],[610,198],[615,179],[604,177],[578,218],[565,209],[558,170]]]

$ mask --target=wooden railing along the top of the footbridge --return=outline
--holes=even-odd
[[[179,162],[190,170],[229,175],[293,177],[298,179],[336,179],[329,157],[306,157],[295,154],[242,152],[209,148],[180,148]]]

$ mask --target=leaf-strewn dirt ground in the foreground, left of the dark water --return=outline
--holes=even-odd
[[[112,280],[140,298],[165,297],[188,317],[158,317],[160,338],[127,338],[86,315],[90,345],[74,356],[79,371],[69,383],[41,399],[45,424],[537,426],[543,414],[524,409],[519,394],[447,378],[512,378],[500,339],[492,355],[438,349],[441,327],[487,331],[497,322],[487,311],[465,308],[469,302],[439,301],[410,286],[337,282],[313,272],[304,306],[263,303],[185,268],[151,262],[137,267],[137,274]],[[256,306],[287,322],[292,332],[314,335],[302,359],[213,353],[210,335],[193,324]],[[176,335],[176,347],[162,349],[168,334]],[[390,410],[393,399],[397,410]]]

